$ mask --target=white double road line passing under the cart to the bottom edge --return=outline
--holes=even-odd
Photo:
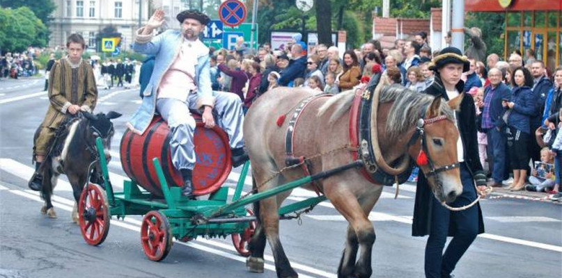
[[[14,193],[15,195],[19,195],[21,197],[26,197],[28,199],[32,199],[33,201],[36,201],[36,202],[41,202],[41,203],[43,202],[40,199],[40,197],[38,196],[38,194],[36,192],[33,192],[33,191],[32,191],[32,193],[27,193],[23,190],[9,190],[8,192]],[[72,206],[74,204],[74,201],[72,201],[70,199],[65,199],[65,201],[64,201],[65,204],[63,204],[63,203],[59,202],[59,201],[61,201],[61,199],[64,199],[64,198],[59,197],[58,200],[53,199],[53,206],[56,207],[56,208],[61,208],[63,211],[72,211]],[[125,223],[125,222],[129,222],[129,223],[133,223],[133,224],[128,224],[128,223]],[[130,230],[135,231],[137,233],[139,233],[141,231],[141,227],[140,227],[141,221],[132,220],[130,218],[127,218],[125,220],[125,222],[120,221],[120,220],[111,219],[111,226],[118,226],[118,227],[122,227],[122,228],[125,228],[125,229],[130,229]],[[226,246],[226,245],[223,245],[223,244],[216,244],[216,242],[213,242],[211,240],[197,240],[197,241],[202,241],[203,243],[206,243],[206,244],[209,244],[209,245],[214,245],[214,246],[221,247],[221,248],[224,248],[224,246]],[[246,258],[244,258],[242,256],[237,256],[235,254],[227,253],[227,252],[224,252],[224,251],[221,251],[221,250],[216,250],[216,249],[213,249],[211,247],[201,245],[199,243],[195,243],[195,242],[182,243],[178,240],[174,240],[174,243],[180,244],[180,245],[185,245],[187,247],[192,247],[192,248],[195,248],[197,250],[209,252],[209,253],[216,254],[216,255],[219,255],[219,256],[223,256],[227,259],[232,259],[234,261],[240,261],[242,263],[246,262]],[[230,247],[230,246],[228,248],[224,248],[224,249],[232,250],[232,251],[234,250],[234,248]],[[264,259],[267,260],[267,261],[273,261],[272,256],[265,256]],[[327,277],[327,278],[337,277],[336,275],[334,275],[332,273],[325,272],[324,270],[318,270],[318,269],[312,268],[312,267],[307,266],[307,265],[302,265],[302,264],[299,264],[299,263],[291,263],[291,265],[292,265],[292,268],[295,268],[297,270],[302,270],[302,271],[305,271],[305,272],[310,272],[314,275],[320,275],[322,277]],[[273,265],[273,264],[265,263],[264,267],[267,270],[275,271],[275,265]],[[312,276],[304,275],[302,273],[299,273],[299,277],[312,278]]]

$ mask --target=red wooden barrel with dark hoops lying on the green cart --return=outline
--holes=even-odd
[[[194,195],[205,195],[218,190],[231,172],[231,148],[228,135],[218,126],[205,129],[197,117],[194,142],[196,163],[193,171]],[[157,157],[169,186],[182,186],[182,176],[175,170],[170,153],[171,132],[162,117],[156,116],[140,136],[127,129],[120,144],[121,165],[128,177],[148,192],[163,197],[153,165]]]

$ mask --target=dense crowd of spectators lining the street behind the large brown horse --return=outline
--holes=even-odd
[[[553,145],[560,128],[562,69],[549,72],[532,50],[526,57],[514,51],[502,61],[499,55],[486,53],[478,28],[465,32],[470,69],[462,81],[476,104],[481,163],[489,185],[547,192],[559,199],[562,154]],[[423,32],[396,40],[392,49],[371,40],[343,53],[325,44],[307,49],[297,38],[284,51],[263,44],[256,55],[240,46],[232,51],[211,49],[211,74],[214,90],[239,95],[247,109],[277,86],[329,94],[352,90],[368,82],[373,67],[382,67],[384,82],[423,92],[434,79],[428,69],[433,53]],[[547,169],[546,174],[538,167]]]

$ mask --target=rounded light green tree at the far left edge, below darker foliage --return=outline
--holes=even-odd
[[[27,8],[0,8],[0,49],[24,51],[29,46],[47,45],[47,26]]]

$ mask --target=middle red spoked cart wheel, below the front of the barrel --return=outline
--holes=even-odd
[[[149,211],[141,224],[141,243],[150,261],[162,261],[172,249],[170,222],[164,213]]]

